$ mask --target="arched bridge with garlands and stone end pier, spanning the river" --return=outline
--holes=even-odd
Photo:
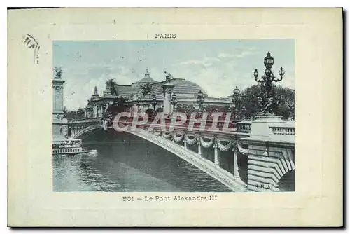
[[[130,126],[131,123],[126,120],[120,121],[119,125]],[[113,130],[101,118],[71,121],[69,128],[73,138],[86,137],[96,129]],[[276,116],[239,122],[230,132],[208,128],[188,130],[186,125],[176,126],[172,132],[164,129],[158,126],[149,130],[149,124],[145,124],[136,130],[128,128],[125,131],[174,153],[232,191],[280,191],[281,181],[295,170],[294,123],[281,121]],[[194,146],[196,151],[193,151]],[[214,160],[203,156],[203,151],[209,148],[214,149]],[[223,169],[219,156],[219,152],[228,151],[232,151],[233,172]],[[245,182],[239,174],[238,154],[247,157]],[[294,190],[294,178],[292,187],[289,191]]]

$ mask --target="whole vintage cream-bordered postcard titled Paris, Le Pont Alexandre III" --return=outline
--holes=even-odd
[[[341,90],[341,8],[9,11],[8,225],[342,226]]]

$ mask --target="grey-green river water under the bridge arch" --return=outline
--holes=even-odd
[[[98,130],[83,142],[98,155],[55,156],[54,191],[230,192],[185,160],[127,133]]]

